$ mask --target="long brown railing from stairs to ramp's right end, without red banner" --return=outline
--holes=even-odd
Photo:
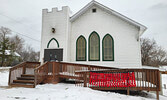
[[[97,73],[108,73],[108,74],[134,72],[136,87],[131,87],[132,90],[134,88],[138,90],[144,89],[147,91],[157,91],[157,89],[160,90],[159,70],[116,69],[116,68],[85,65],[85,64],[74,64],[74,63],[67,63],[67,62],[47,62],[42,66],[36,68],[35,69],[35,73],[37,75],[36,84],[42,82],[41,80],[44,80],[44,78],[46,79],[46,77],[50,77],[50,80],[53,80],[53,81],[55,81],[56,78],[58,77],[58,78],[74,79],[76,81],[77,86],[78,85],[84,86],[84,80],[87,80],[86,81],[87,83],[85,84],[89,83],[90,72],[92,71]],[[97,86],[97,87],[100,87],[100,86]],[[110,87],[110,88],[114,88],[114,87]],[[125,89],[125,88],[122,87],[121,89]]]

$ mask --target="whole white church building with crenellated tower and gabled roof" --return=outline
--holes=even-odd
[[[43,9],[40,61],[141,67],[140,36],[146,29],[94,0],[72,16],[68,6]]]

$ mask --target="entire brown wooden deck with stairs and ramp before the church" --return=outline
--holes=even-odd
[[[135,86],[102,86],[101,84],[108,83],[102,82],[98,78],[96,85],[93,85],[90,82],[91,72],[105,73],[107,75],[133,72]],[[96,90],[127,90],[127,94],[129,94],[130,90],[156,91],[157,99],[159,99],[160,72],[156,69],[118,69],[66,62],[46,62],[40,66],[40,63],[24,62],[10,69],[9,85],[35,87],[41,83],[59,83],[63,79],[71,79],[75,81],[76,86],[89,87]],[[110,82],[112,81],[110,80]],[[129,82],[129,80],[126,80],[126,82]]]

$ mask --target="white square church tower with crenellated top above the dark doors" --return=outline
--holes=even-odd
[[[69,14],[70,9],[67,6],[62,7],[62,10],[53,8],[51,12],[48,12],[48,9],[42,10],[40,62],[46,59],[57,59],[60,56],[63,56],[60,57],[63,61],[68,61],[69,28],[71,26]],[[59,50],[62,55],[52,54],[54,50]]]

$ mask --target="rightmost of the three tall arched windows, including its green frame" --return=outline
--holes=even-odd
[[[102,41],[103,61],[114,61],[114,40],[110,34],[106,34]]]

